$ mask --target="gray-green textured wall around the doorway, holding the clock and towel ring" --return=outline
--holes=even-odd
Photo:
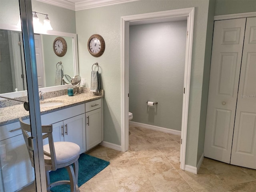
[[[121,144],[121,16],[195,7],[185,163],[196,166],[208,6],[208,0],[141,0],[76,11],[80,76],[86,78],[87,87],[92,64],[98,62],[101,68],[102,88],[105,90],[104,141]],[[100,34],[105,40],[106,49],[99,58],[92,57],[87,50],[87,41],[92,34]]]

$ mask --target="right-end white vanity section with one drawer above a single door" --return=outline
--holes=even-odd
[[[102,99],[88,102],[85,105],[86,150],[89,150],[103,140]]]

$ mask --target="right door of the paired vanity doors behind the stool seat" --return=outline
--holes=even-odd
[[[80,146],[80,154],[86,151],[85,114],[63,121],[64,141],[73,142]]]

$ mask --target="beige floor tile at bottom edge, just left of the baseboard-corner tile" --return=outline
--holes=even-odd
[[[176,170],[153,174],[149,178],[157,192],[191,192],[193,189]]]

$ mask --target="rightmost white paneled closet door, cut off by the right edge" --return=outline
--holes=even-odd
[[[256,169],[256,18],[247,18],[231,164]]]

